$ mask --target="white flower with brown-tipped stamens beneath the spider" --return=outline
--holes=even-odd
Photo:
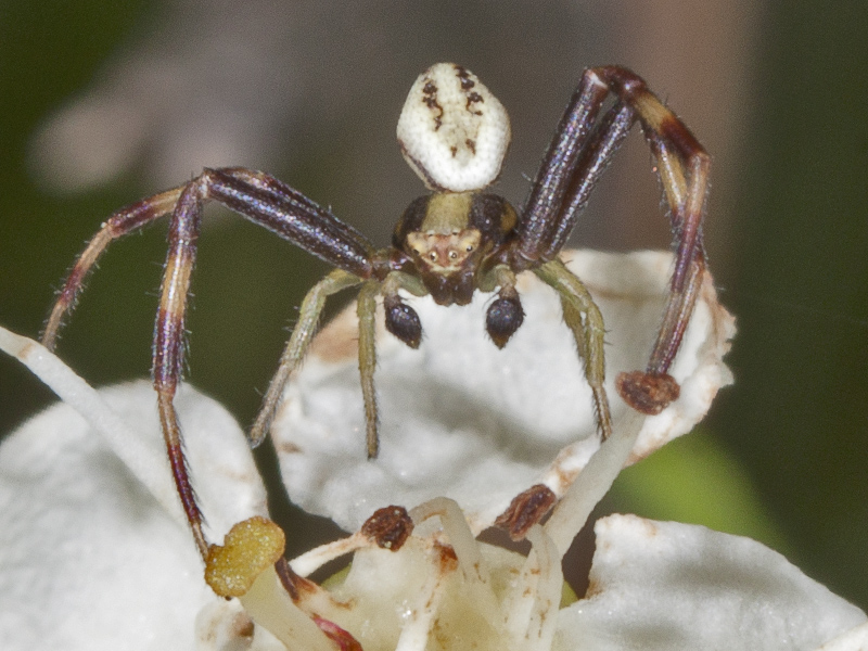
[[[576,264],[611,329],[610,375],[640,368],[667,259],[577,255]],[[659,273],[639,276],[650,268]],[[637,292],[637,282],[646,290]],[[213,549],[229,557],[222,566],[232,589],[233,567],[250,575],[232,592],[240,600],[229,601],[203,579],[149,384],[95,392],[35,342],[0,330],[0,347],[65,403],[0,447],[2,649],[868,648],[865,613],[776,552],[631,515],[598,522],[591,589],[562,608],[560,559],[590,508],[625,462],[688,430],[729,381],[720,356],[731,319],[709,281],[674,369],[681,397],[647,419],[615,407],[615,432],[599,446],[572,342],[547,293],[525,288],[527,319],[502,366],[488,357],[494,346],[481,335],[482,319],[464,323],[452,310],[438,319],[439,310],[417,305],[427,333],[421,352],[381,342],[383,457],[374,462],[363,461],[360,398],[344,368],[352,350],[335,345],[346,347],[347,318],[320,339],[276,432],[291,492],[353,528],[386,503],[408,507],[414,524],[392,549],[380,547],[382,529],[369,527],[291,561],[306,575],[354,553],[348,572],[328,587],[285,564],[276,573],[282,533],[261,519],[265,495],[243,433],[219,405],[182,390],[178,408],[208,534],[221,539],[246,521],[228,537],[228,551]],[[436,392],[449,398],[448,409],[431,408]],[[354,427],[358,439],[337,437]],[[532,438],[520,445],[512,435]],[[539,481],[563,497],[545,526],[529,529],[527,557],[475,540],[511,496]],[[390,510],[383,522],[393,520],[407,524]],[[260,536],[256,566],[232,560],[245,532]]]

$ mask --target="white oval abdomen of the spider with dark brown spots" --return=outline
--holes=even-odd
[[[454,63],[419,75],[398,118],[401,153],[431,190],[482,190],[500,174],[509,141],[503,105]]]

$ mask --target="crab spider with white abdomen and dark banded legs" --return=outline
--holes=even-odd
[[[608,106],[612,95],[614,103]],[[411,348],[422,324],[401,292],[430,294],[439,305],[467,305],[476,291],[495,293],[486,330],[503,347],[524,319],[516,276],[533,271],[559,294],[584,372],[592,390],[600,435],[612,430],[603,382],[603,320],[582,281],[558,257],[591,190],[633,124],[641,124],[651,148],[674,232],[677,257],[656,343],[644,371],[621,373],[624,400],[656,413],[678,397],[667,373],[695,303],[705,267],[702,217],[710,158],[689,129],[623,67],[584,72],[520,212],[485,192],[500,174],[510,140],[500,102],[467,68],[432,66],[413,84],[398,119],[404,157],[429,194],[411,202],[392,244],[374,245],[330,210],[276,178],[250,169],[204,169],[191,181],[129,205],[100,228],[59,293],[42,343],[53,348],[63,317],[75,306],[88,271],[108,243],[163,216],[170,216],[168,254],[161,285],[153,344],[153,384],[171,472],[199,551],[202,528],[181,445],[174,396],[183,369],[183,335],[190,276],[203,206],[216,201],[333,267],[306,295],[299,318],[251,430],[252,445],[267,434],[286,381],[303,360],[326,299],[360,285],[359,371],[369,458],[378,452],[374,392],[374,314],[382,297],[386,329]],[[406,294],[405,294],[406,295]]]

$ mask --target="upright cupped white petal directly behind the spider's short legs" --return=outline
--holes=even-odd
[[[668,286],[672,256],[569,252],[607,323],[607,388],[617,422],[627,407],[613,382],[644,368]],[[437,496],[458,501],[471,528],[490,525],[512,497],[544,482],[562,495],[598,449],[590,391],[552,290],[525,273],[524,326],[503,350],[485,334],[490,296],[465,307],[410,299],[424,329],[411,350],[381,327],[378,368],[380,457],[366,458],[348,308],[316,340],[272,426],[290,496],[306,510],[357,529],[375,509],[412,508]],[[681,397],[644,420],[633,460],[688,432],[717,390],[731,382],[722,361],[732,318],[703,284],[673,368]]]

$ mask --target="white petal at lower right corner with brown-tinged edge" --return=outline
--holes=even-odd
[[[866,621],[750,538],[635,515],[595,532],[588,597],[561,611],[554,649],[809,650]]]

